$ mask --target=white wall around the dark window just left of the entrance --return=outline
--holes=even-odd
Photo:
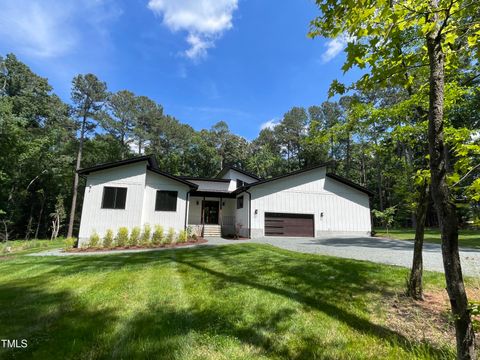
[[[157,190],[178,191],[176,211],[155,211]],[[173,227],[176,232],[184,229],[185,207],[189,187],[160,174],[147,171],[143,198],[142,225],[162,225],[165,232]]]

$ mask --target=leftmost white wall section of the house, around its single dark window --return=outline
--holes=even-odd
[[[129,229],[142,222],[146,162],[94,172],[87,177],[80,221],[79,243],[88,241],[96,231],[101,237],[107,229]],[[102,209],[105,186],[126,187],[125,209]]]

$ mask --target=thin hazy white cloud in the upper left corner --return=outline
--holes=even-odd
[[[101,25],[120,14],[109,3],[109,0],[0,0],[0,43],[8,51],[36,58],[65,55],[77,47],[86,28],[105,34]]]

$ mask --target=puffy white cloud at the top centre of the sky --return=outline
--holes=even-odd
[[[186,31],[190,59],[205,57],[215,40],[232,28],[238,0],[149,0],[148,8],[162,16],[171,31]]]

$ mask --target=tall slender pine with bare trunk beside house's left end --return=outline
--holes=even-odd
[[[93,74],[77,75],[72,81],[72,102],[74,116],[80,124],[80,137],[75,165],[75,175],[72,192],[72,206],[70,209],[70,220],[68,223],[67,237],[73,235],[73,224],[75,221],[75,210],[77,206],[77,193],[79,176],[77,171],[82,164],[83,143],[86,134],[92,131],[100,117],[100,111],[107,99],[107,85],[100,81]]]

